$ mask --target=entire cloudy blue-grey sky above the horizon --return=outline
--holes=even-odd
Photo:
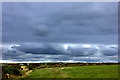
[[[117,62],[117,2],[3,2],[2,59]]]

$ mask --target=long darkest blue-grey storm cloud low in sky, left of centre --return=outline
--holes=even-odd
[[[32,54],[63,54],[63,48],[59,45],[50,45],[50,44],[39,44],[38,46],[31,45],[21,45],[21,46],[13,46],[13,49],[17,49],[24,53],[32,53]]]

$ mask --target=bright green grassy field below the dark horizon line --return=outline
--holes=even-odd
[[[117,78],[118,65],[75,66],[35,69],[29,78]]]

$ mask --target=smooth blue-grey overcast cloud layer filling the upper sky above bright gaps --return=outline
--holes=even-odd
[[[3,3],[3,42],[117,43],[117,7],[92,2]]]

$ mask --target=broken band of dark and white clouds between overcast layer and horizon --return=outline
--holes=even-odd
[[[36,46],[34,46],[36,45]],[[117,46],[111,48],[110,45],[91,46],[89,48],[77,46],[68,46],[65,48],[62,44],[21,44],[12,45],[3,48],[3,60],[16,61],[83,61],[83,62],[105,62],[117,61],[116,52]],[[48,49],[48,47],[50,49]],[[105,50],[111,53],[107,53]],[[37,51],[39,50],[39,51]],[[49,51],[50,50],[50,51]],[[28,52],[27,52],[28,51]],[[117,51],[117,49],[116,49]],[[99,54],[98,54],[99,53]]]

